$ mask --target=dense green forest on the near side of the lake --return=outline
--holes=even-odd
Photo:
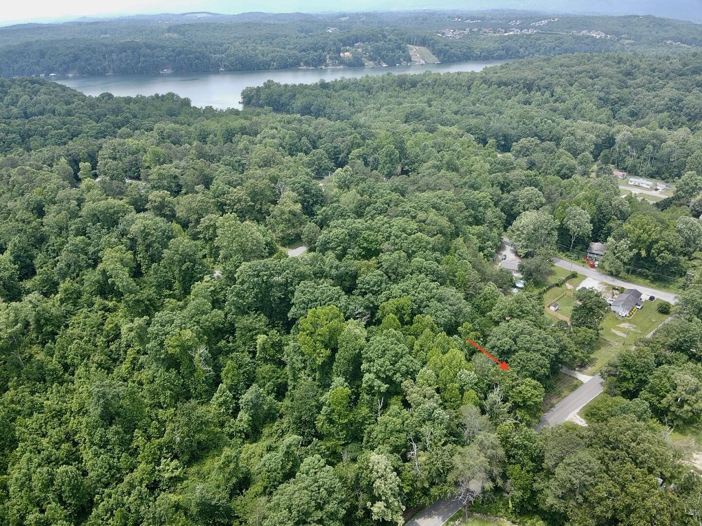
[[[0,80],[0,523],[400,525],[458,488],[530,526],[698,525],[665,425],[702,419],[699,64],[267,84],[243,112]],[[675,194],[622,198],[613,164]],[[534,431],[602,306],[515,293],[505,231],[529,281],[589,241],[696,273],[588,427]]]

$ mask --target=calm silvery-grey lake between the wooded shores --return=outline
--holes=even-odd
[[[333,81],[361,76],[392,74],[417,74],[432,72],[479,72],[485,67],[504,64],[509,60],[469,60],[450,64],[428,64],[392,67],[348,67],[329,69],[265,69],[247,72],[223,73],[168,73],[133,75],[88,75],[58,77],[56,82],[82,91],[86,95],[154,95],[178,93],[188,97],[194,106],[213,106],[219,109],[241,109],[241,91],[248,86],[261,86],[267,80],[287,84],[312,84],[321,79]]]

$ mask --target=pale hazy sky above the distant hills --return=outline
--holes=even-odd
[[[702,0],[355,0],[346,4],[329,0],[22,0],[7,1],[0,9],[0,23],[72,20],[81,16],[185,13],[324,13],[407,9],[510,8],[531,11],[585,14],[656,15],[702,22]]]

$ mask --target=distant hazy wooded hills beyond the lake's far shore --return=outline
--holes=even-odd
[[[0,76],[395,65],[413,60],[408,44],[428,48],[442,62],[578,51],[672,53],[702,45],[701,25],[638,16],[205,14],[2,27]]]

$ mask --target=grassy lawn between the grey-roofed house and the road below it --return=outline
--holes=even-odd
[[[612,312],[607,313],[600,328],[597,349],[592,356],[594,362],[585,370],[585,374],[593,375],[600,371],[612,358],[616,358],[622,349],[631,347],[637,339],[646,337],[661,325],[665,318],[668,318],[668,314],[656,311],[660,302],[660,299],[656,299],[655,302],[644,302],[643,308],[631,318],[620,318]]]

